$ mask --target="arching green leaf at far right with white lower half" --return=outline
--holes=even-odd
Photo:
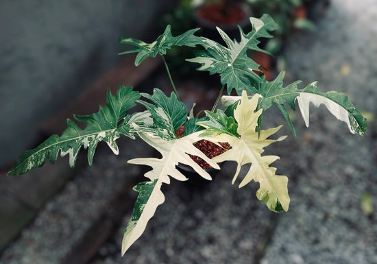
[[[317,82],[313,82],[303,89],[297,88],[298,82],[283,87],[283,79],[284,72],[280,73],[275,80],[271,82],[265,81],[260,85],[259,92],[260,95],[262,95],[262,99],[260,100],[258,108],[262,108],[265,111],[271,107],[273,103],[277,104],[284,118],[294,131],[284,103],[289,104],[289,106],[295,110],[295,101],[297,100],[306,126],[309,125],[309,104],[312,103],[316,107],[324,104],[332,115],[348,125],[350,132],[359,135],[364,134],[367,128],[365,118],[356,110],[354,105],[348,101],[348,97],[345,93],[335,91],[321,93],[318,91]]]

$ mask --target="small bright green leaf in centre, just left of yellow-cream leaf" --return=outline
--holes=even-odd
[[[236,121],[233,117],[228,117],[223,110],[217,109],[216,113],[206,111],[206,116],[209,120],[197,122],[197,125],[206,128],[202,136],[223,133],[239,136],[239,134],[237,134]]]

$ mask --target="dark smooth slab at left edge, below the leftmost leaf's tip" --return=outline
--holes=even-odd
[[[70,169],[62,159],[21,176],[7,176],[5,172],[0,176],[0,251],[32,222],[79,168],[80,163]]]

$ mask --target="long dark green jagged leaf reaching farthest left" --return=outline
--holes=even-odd
[[[112,96],[110,90],[107,94],[106,106],[99,107],[99,112],[93,115],[76,116],[77,121],[86,122],[86,128],[81,130],[73,121],[67,120],[68,128],[64,130],[62,136],[53,135],[49,139],[21,154],[13,167],[8,171],[10,175],[22,174],[30,169],[40,167],[49,159],[55,163],[60,156],[69,154],[69,165],[74,167],[77,154],[81,147],[88,148],[88,163],[91,165],[97,144],[100,141],[108,143],[114,154],[118,154],[118,146],[115,141],[120,134],[125,134],[134,138],[130,132],[131,126],[127,123],[127,110],[136,104],[140,97],[139,93],[132,91],[132,87],[120,86],[117,94]],[[126,118],[119,126],[118,123]]]

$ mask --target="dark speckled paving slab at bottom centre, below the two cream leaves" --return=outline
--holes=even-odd
[[[231,184],[234,169],[228,165],[206,187],[165,186],[165,203],[125,256],[118,252],[131,211],[112,242],[117,250],[106,256],[111,244],[105,244],[99,250],[105,258],[91,263],[254,263],[276,215],[256,200],[255,185]]]

